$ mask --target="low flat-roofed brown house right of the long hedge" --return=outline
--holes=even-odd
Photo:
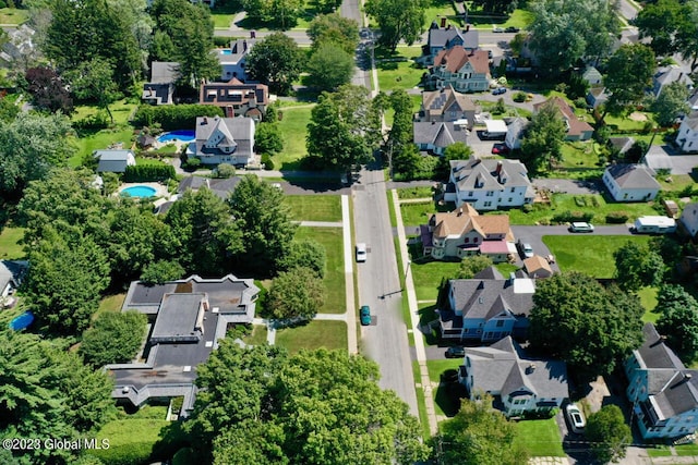
[[[222,108],[226,118],[248,117],[261,121],[269,105],[269,88],[264,84],[243,84],[236,77],[227,83],[204,81],[198,102]]]

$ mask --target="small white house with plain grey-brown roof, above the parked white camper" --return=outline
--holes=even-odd
[[[662,188],[654,171],[645,164],[612,164],[602,179],[615,201],[653,200]]]

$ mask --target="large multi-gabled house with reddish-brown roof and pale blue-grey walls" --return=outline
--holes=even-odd
[[[465,93],[488,90],[492,78],[488,52],[468,51],[462,46],[440,51],[430,72],[429,87],[442,89],[450,85]]]

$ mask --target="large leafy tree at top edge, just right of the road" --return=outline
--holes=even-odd
[[[378,44],[395,51],[400,40],[414,44],[424,30],[424,0],[369,0],[365,11],[381,28]]]

